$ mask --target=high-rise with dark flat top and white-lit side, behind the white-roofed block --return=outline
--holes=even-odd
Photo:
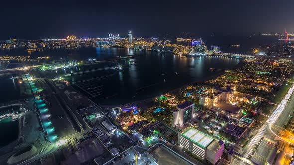
[[[179,122],[178,124],[183,125],[193,117],[194,103],[191,101],[185,101],[182,104],[178,104],[177,109],[179,111]]]

